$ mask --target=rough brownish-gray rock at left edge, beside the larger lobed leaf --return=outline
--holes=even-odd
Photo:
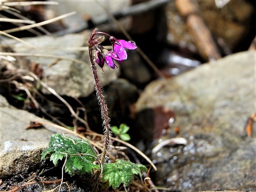
[[[0,147],[0,178],[30,173],[40,166],[47,142],[7,141]]]

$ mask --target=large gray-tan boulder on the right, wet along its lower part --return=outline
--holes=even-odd
[[[255,51],[240,52],[146,87],[137,109],[173,110],[172,127],[180,127],[178,137],[188,142],[152,154],[156,185],[170,191],[256,190],[256,137],[244,137],[256,111],[255,58]],[[172,135],[169,128],[161,140]]]

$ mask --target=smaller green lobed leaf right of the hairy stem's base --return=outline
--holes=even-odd
[[[104,165],[102,180],[109,181],[109,186],[113,188],[119,187],[121,183],[128,186],[132,182],[134,174],[141,177],[141,171],[147,171],[147,168],[131,161],[116,159],[115,163]]]

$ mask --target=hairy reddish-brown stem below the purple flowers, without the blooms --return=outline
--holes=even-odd
[[[109,147],[109,137],[111,136],[111,131],[110,131],[111,126],[109,124],[110,118],[109,118],[109,114],[108,114],[107,103],[104,100],[103,91],[100,86],[100,78],[97,75],[97,67],[95,65],[95,62],[93,61],[92,47],[89,47],[89,57],[90,57],[93,79],[94,79],[94,83],[95,83],[95,90],[96,90],[96,94],[97,94],[97,99],[100,104],[100,111],[101,111],[101,116],[102,116],[103,126],[104,126],[103,149],[102,149],[102,156],[100,159],[100,162],[103,166],[103,164],[106,160],[106,157],[107,157],[107,151],[108,151],[108,147]]]

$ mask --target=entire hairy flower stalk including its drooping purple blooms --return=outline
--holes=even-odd
[[[100,86],[100,78],[97,75],[97,67],[95,64],[98,64],[102,68],[102,71],[105,63],[112,69],[115,69],[116,64],[114,63],[114,60],[118,62],[123,62],[123,60],[127,59],[127,53],[125,48],[134,50],[137,47],[133,41],[118,40],[107,33],[96,32],[96,31],[97,31],[97,28],[95,28],[92,31],[92,34],[88,41],[88,47],[89,47],[89,57],[90,57],[94,84],[95,84],[95,90],[97,94],[97,99],[99,100],[99,104],[100,104],[101,116],[102,116],[102,121],[104,126],[103,149],[102,149],[102,156],[100,159],[101,164],[103,165],[107,158],[107,152],[109,147],[109,137],[111,136],[111,131],[110,131],[111,126],[110,126],[110,119],[108,115],[107,103],[104,99],[103,91]],[[96,35],[101,35],[102,37],[101,38],[95,37]],[[100,45],[104,41],[105,36],[107,36],[112,43],[113,49],[111,51],[108,51],[102,45]]]

